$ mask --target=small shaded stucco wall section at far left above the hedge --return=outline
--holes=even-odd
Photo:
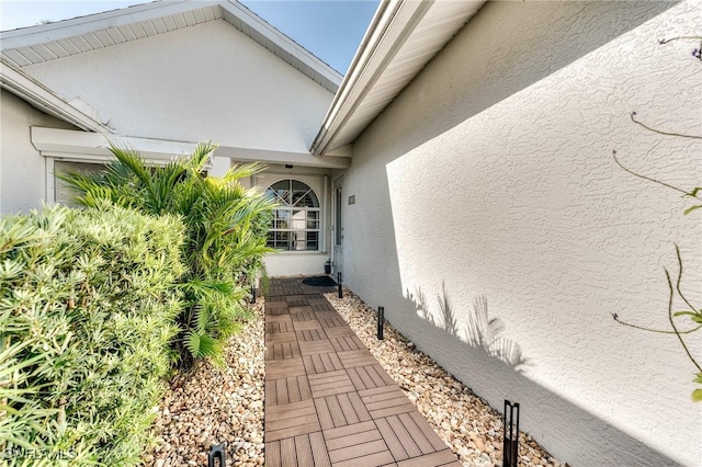
[[[32,146],[31,126],[76,129],[0,90],[0,214],[38,208],[46,198],[46,160]]]

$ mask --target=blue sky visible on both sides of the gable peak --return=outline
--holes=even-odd
[[[33,26],[146,1],[0,0],[0,30]],[[247,8],[299,45],[346,72],[378,0],[242,0]]]

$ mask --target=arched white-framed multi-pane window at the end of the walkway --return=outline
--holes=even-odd
[[[307,184],[293,179],[273,183],[265,193],[275,200],[268,246],[284,251],[319,250],[319,198]]]

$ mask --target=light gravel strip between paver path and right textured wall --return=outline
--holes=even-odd
[[[375,310],[347,288],[343,298],[336,292],[325,297],[464,466],[502,465],[502,415],[497,410],[418,351],[389,322],[384,340],[378,341]],[[523,432],[519,435],[519,457],[523,466],[562,465]]]

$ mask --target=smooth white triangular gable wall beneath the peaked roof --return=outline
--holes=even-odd
[[[23,69],[124,136],[307,152],[333,95],[225,21]]]

